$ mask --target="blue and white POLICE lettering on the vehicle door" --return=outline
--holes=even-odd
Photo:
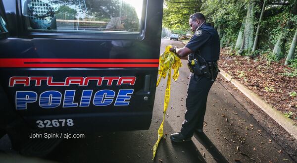
[[[113,103],[114,106],[128,106],[130,103],[133,89],[119,90],[116,98],[116,93],[113,90],[100,90],[94,95],[94,106],[108,106]],[[79,107],[89,107],[91,103],[93,90],[83,90]],[[62,108],[76,108],[78,103],[74,102],[75,90],[66,90]],[[36,92],[33,91],[17,91],[15,94],[16,109],[27,109],[27,104],[35,103],[38,100]],[[62,94],[58,91],[46,91],[39,96],[39,106],[45,109],[57,108],[61,105]]]

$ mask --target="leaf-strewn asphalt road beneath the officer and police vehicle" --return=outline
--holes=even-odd
[[[182,47],[179,41],[162,40],[166,45]],[[172,143],[169,135],[180,131],[184,120],[189,70],[186,61],[179,79],[171,83],[170,104],[164,122],[167,135],[159,143],[152,160],[152,146],[162,121],[166,80],[157,87],[153,117],[149,130],[109,132],[67,139],[45,160],[58,163],[293,163],[226,88],[220,78],[208,96],[204,133],[192,141]],[[1,144],[0,144],[1,145]]]

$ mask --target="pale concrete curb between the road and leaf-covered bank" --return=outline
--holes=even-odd
[[[271,118],[273,118],[279,125],[288,131],[297,140],[297,125],[296,123],[286,117],[281,111],[273,108],[270,104],[266,103],[258,95],[250,91],[246,86],[241,84],[238,80],[234,79],[231,75],[220,69],[220,74],[236,86],[243,94],[247,96],[255,105],[265,111]]]

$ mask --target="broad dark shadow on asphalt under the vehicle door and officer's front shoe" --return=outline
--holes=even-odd
[[[149,130],[86,134],[84,139],[66,139],[46,158],[59,163],[206,163],[194,142],[172,143],[174,133],[167,121],[155,159],[152,146],[159,123]]]

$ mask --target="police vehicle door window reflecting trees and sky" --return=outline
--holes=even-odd
[[[29,31],[139,34],[143,0],[22,0]]]

